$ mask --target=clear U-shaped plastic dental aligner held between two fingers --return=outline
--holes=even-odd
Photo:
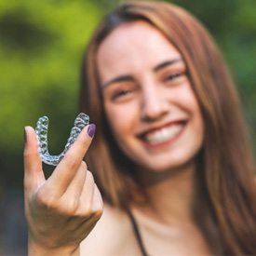
[[[88,115],[80,113],[74,120],[74,127],[71,129],[70,137],[65,145],[63,152],[60,155],[49,155],[48,145],[47,145],[47,129],[48,129],[48,117],[42,116],[38,119],[36,123],[36,136],[39,144],[39,155],[42,158],[42,161],[51,166],[57,166],[61,159],[64,157],[68,149],[77,139],[81,130],[86,127],[89,123]]]

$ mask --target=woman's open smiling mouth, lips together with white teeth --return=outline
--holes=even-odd
[[[141,141],[149,146],[163,145],[173,141],[183,130],[186,122],[179,121],[143,133]]]

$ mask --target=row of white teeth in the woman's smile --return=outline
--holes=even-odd
[[[178,134],[181,129],[182,125],[173,125],[167,128],[161,128],[151,132],[145,136],[145,140],[150,143],[158,143],[163,141],[168,141],[172,139],[176,134]]]

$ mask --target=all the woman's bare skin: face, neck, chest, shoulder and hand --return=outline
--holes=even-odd
[[[153,27],[133,22],[107,36],[97,62],[115,139],[137,164],[152,201],[153,208],[130,206],[147,251],[150,255],[209,255],[191,212],[194,159],[203,143],[204,126],[181,54]],[[141,133],[177,125],[179,132],[167,141],[152,145],[139,138]],[[101,216],[100,192],[82,161],[91,142],[87,128],[47,181],[33,128],[26,128],[26,134],[29,254],[141,255],[125,212],[105,203]]]

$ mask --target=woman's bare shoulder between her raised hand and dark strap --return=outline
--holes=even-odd
[[[104,204],[103,214],[88,237],[80,245],[81,255],[128,255],[136,240],[128,215],[121,209]],[[134,248],[134,246],[132,246]],[[136,248],[136,247],[135,247]],[[134,255],[134,254],[133,254]]]

